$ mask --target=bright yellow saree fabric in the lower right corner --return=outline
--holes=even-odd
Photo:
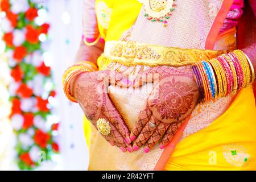
[[[255,170],[255,158],[256,107],[249,86],[210,126],[179,142],[164,169]]]

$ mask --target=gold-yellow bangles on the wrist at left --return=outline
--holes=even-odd
[[[75,97],[71,94],[71,80],[76,76],[79,76],[84,72],[94,72],[97,71],[97,66],[90,61],[80,61],[73,64],[71,67],[67,68],[63,74],[62,85],[65,96],[72,102],[77,102]]]

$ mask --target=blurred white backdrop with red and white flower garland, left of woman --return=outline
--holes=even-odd
[[[82,0],[0,5],[0,170],[86,170],[82,111],[61,86],[81,40]]]

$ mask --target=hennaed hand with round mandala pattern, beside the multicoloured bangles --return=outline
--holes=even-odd
[[[167,146],[199,100],[190,66],[153,67],[138,75],[133,86],[137,88],[147,82],[154,82],[154,88],[131,131],[131,140],[135,140],[133,149],[146,144],[144,152],[150,151],[161,139],[160,148]]]

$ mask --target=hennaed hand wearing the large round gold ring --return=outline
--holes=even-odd
[[[86,118],[95,127],[99,118],[109,121],[110,134],[102,136],[112,146],[118,146],[123,152],[126,152],[126,150],[131,152],[132,147],[129,144],[131,143],[130,132],[108,96],[109,83],[122,86],[127,84],[127,80],[118,72],[97,71],[82,73],[73,81],[71,92],[79,102]]]

